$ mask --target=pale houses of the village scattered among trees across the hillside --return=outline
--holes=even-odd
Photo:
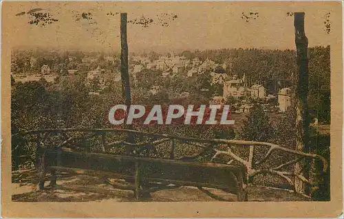
[[[76,61],[79,59],[79,63]],[[68,56],[67,68],[63,66],[58,69],[56,65],[43,64],[40,71],[34,73],[16,73],[12,71],[14,80],[25,82],[28,80],[40,80],[44,78],[47,82],[54,82],[58,77],[74,77],[78,73],[85,75],[85,84],[89,87],[89,94],[100,95],[105,89],[106,84],[120,83],[120,71],[118,62],[120,60],[116,56],[84,56],[77,58]],[[29,68],[37,65],[36,58],[31,57]],[[76,62],[76,64],[73,64]],[[104,64],[105,63],[105,64]],[[17,63],[12,60],[11,67],[15,69]],[[61,65],[61,64],[60,64]],[[93,68],[93,69],[92,69]],[[210,78],[210,84],[204,84],[202,91],[208,91],[210,87],[219,87],[221,92],[213,93],[208,104],[230,104],[232,106],[231,113],[249,113],[257,104],[261,105],[266,112],[286,112],[290,106],[291,91],[290,87],[279,88],[278,93],[272,93],[264,87],[264,83],[252,84],[248,80],[248,76],[244,73],[241,77],[233,72],[231,63],[216,63],[210,58],[201,60],[200,58],[186,58],[169,53],[166,56],[155,54],[155,56],[136,55],[129,56],[129,74],[132,80],[132,86],[140,86],[140,74],[143,71],[154,71],[158,75],[158,80],[170,80],[171,78],[183,77],[188,78]],[[164,87],[158,84],[149,84],[149,93],[155,95]],[[180,93],[180,97],[188,97],[190,92],[184,91]],[[220,95],[219,95],[220,94]]]

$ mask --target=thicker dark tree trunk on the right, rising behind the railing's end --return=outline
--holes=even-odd
[[[295,104],[297,110],[296,118],[296,148],[295,150],[309,152],[309,126],[308,119],[308,38],[305,36],[305,14],[303,12],[294,13],[295,44],[297,46],[297,69]],[[308,178],[308,162],[297,163],[294,172],[301,173]],[[299,178],[294,179],[295,191],[308,193]]]

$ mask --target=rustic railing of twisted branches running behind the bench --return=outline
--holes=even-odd
[[[81,133],[81,135],[76,135],[76,133]],[[136,137],[148,137],[151,139],[141,140],[136,143],[131,143],[127,141],[126,135],[122,135],[120,137],[115,137],[115,141],[107,142],[107,137],[109,135],[116,135],[116,134],[125,134],[130,133]],[[321,157],[319,154],[311,154],[300,152],[297,150],[292,150],[289,148],[284,148],[278,146],[274,143],[268,142],[261,142],[261,141],[244,141],[244,140],[237,140],[237,139],[197,139],[192,137],[180,137],[176,135],[166,135],[166,134],[158,134],[158,133],[149,133],[149,132],[142,132],[138,130],[127,130],[127,129],[105,129],[105,128],[61,128],[61,129],[42,129],[42,130],[30,130],[26,132],[21,132],[12,135],[12,138],[15,137],[24,137],[28,135],[36,135],[36,150],[39,151],[41,148],[45,148],[45,142],[47,139],[52,137],[52,135],[63,135],[63,141],[61,143],[56,143],[56,145],[52,146],[56,149],[63,149],[63,148],[73,148],[75,144],[81,144],[87,151],[90,151],[89,143],[87,140],[94,137],[100,136],[100,145],[102,153],[111,153],[111,149],[119,147],[119,146],[131,146],[137,149],[148,149],[149,151],[157,152],[157,146],[162,145],[163,143],[169,143],[168,147],[166,148],[169,151],[168,159],[178,159],[178,160],[186,160],[186,161],[195,161],[197,157],[202,157],[205,154],[211,154],[211,162],[215,162],[215,159],[218,157],[225,155],[229,157],[229,161],[227,164],[237,162],[240,165],[244,165],[247,170],[247,176],[249,180],[252,180],[254,176],[257,174],[273,174],[275,176],[279,176],[283,178],[289,185],[294,189],[294,183],[291,177],[297,177],[303,183],[310,183],[307,178],[305,178],[300,172],[293,172],[292,170],[283,170],[286,168],[292,167],[295,163],[303,161],[304,159],[316,159],[321,161],[322,168],[319,172],[326,172],[328,168],[327,160]],[[68,136],[68,135],[74,136]],[[122,139],[120,139],[122,138]],[[175,150],[176,150],[176,141],[180,141],[179,145],[182,146],[192,146],[198,148],[201,152],[198,154],[193,154],[193,156],[181,156],[176,157]],[[13,142],[13,141],[12,141]],[[68,147],[69,146],[69,147]],[[232,148],[229,146],[244,146],[249,148],[248,159],[244,159],[240,157],[238,154],[233,152]],[[255,157],[255,147],[256,146],[263,146],[264,148],[268,148],[267,152],[264,156],[254,162]],[[51,146],[50,146],[51,147]],[[142,156],[136,150],[133,151],[133,156]],[[136,152],[136,153],[135,153]],[[294,159],[290,161],[286,161],[279,165],[269,168],[257,168],[257,166],[265,163],[271,156],[272,152],[283,152],[294,156]],[[36,153],[38,154],[38,153]],[[149,155],[146,155],[149,157]],[[295,158],[296,157],[296,158]],[[166,158],[166,157],[165,157]],[[292,169],[292,168],[290,168]],[[295,190],[295,189],[294,189]],[[305,196],[305,195],[304,195]]]

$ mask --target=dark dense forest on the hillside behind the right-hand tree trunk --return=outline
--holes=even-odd
[[[245,73],[249,84],[264,84],[272,94],[292,87],[297,76],[297,54],[290,49],[210,49],[183,51],[180,55],[190,60],[209,58],[224,63],[229,76],[236,74],[241,78]],[[330,46],[309,48],[308,58],[310,113],[321,122],[330,123]]]

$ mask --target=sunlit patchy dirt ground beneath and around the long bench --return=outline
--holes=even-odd
[[[12,173],[12,200],[15,202],[124,202],[136,201],[133,192],[115,189],[105,183],[104,178],[83,174],[69,175],[65,173],[58,178],[57,187],[52,189],[45,182],[45,189],[37,189],[38,173],[34,170],[25,170]],[[116,179],[112,179],[116,180]],[[118,179],[117,179],[118,181]],[[82,187],[82,189],[80,189]],[[228,194],[219,189],[205,188],[214,194],[208,196],[197,187],[178,187],[152,192],[143,201],[236,201],[237,196]],[[249,185],[248,201],[295,201],[307,200],[297,196],[292,191],[272,189]]]

